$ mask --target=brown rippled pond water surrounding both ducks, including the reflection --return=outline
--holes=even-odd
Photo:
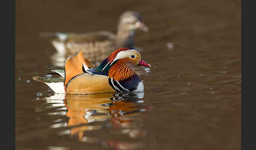
[[[16,1],[16,149],[241,149],[240,6]],[[144,94],[61,95],[31,80],[61,68],[40,33],[115,32],[129,9],[149,26],[135,38],[152,65],[136,68]]]

